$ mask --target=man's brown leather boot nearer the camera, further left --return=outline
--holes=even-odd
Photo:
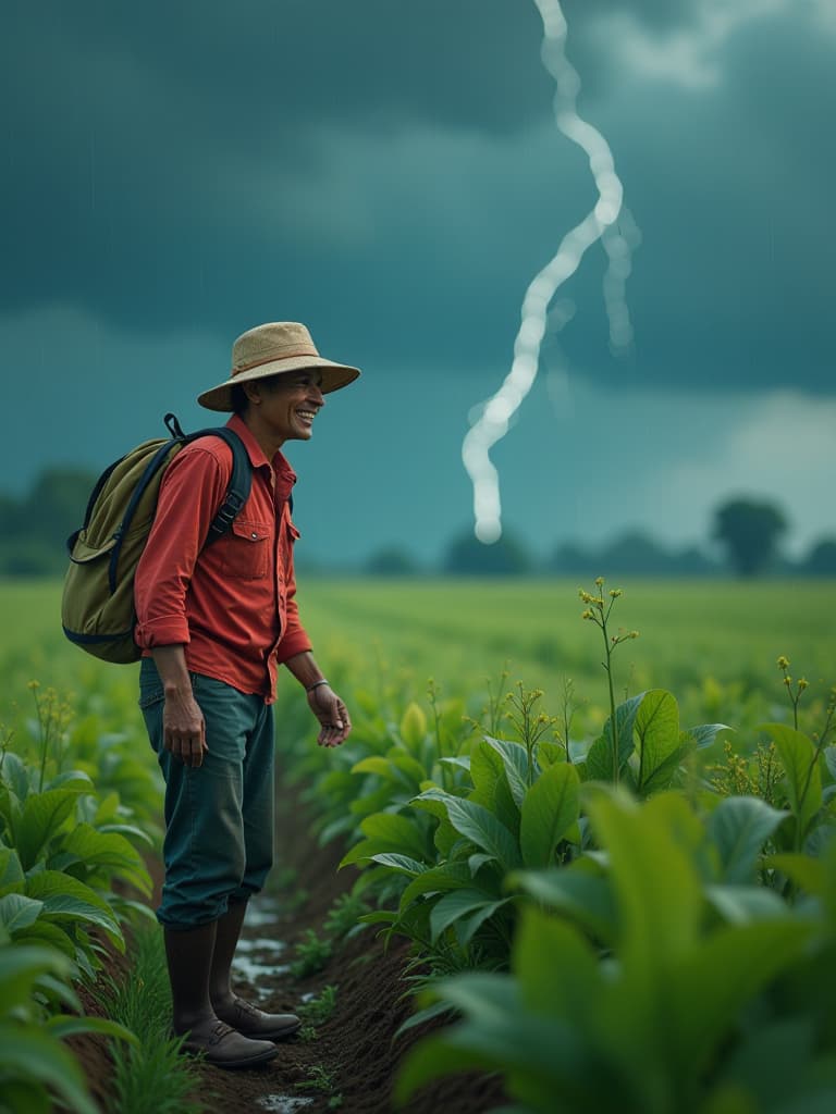
[[[185,1036],[183,1051],[202,1053],[215,1067],[252,1067],[279,1052],[270,1040],[250,1040],[218,1018],[208,994],[216,921],[185,930],[165,930],[174,1033]]]

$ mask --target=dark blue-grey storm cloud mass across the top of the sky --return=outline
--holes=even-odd
[[[699,7],[629,10],[662,42]],[[573,364],[832,389],[833,40],[765,21],[718,48],[717,88],[671,89],[602,39],[623,3],[564,9],[644,235],[632,363],[609,356],[591,254],[565,291]],[[509,355],[527,281],[593,199],[551,125],[528,0],[55,0],[3,19],[7,313],[68,303],[226,341],[281,306],[358,360],[472,373]]]

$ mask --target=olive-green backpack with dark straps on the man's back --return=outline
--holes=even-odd
[[[171,437],[144,441],[99,476],[82,526],[67,539],[64,633],[105,662],[126,664],[142,656],[134,642],[134,575],[154,521],[163,473],[174,456],[184,444],[207,436],[220,437],[232,449],[232,478],[204,547],[230,529],[250,496],[252,465],[237,433],[226,427],[184,433],[172,413],[164,421]]]

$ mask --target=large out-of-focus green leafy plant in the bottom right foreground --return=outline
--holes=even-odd
[[[764,802],[726,802],[708,836],[675,794],[636,805],[602,788],[589,810],[605,860],[519,877],[537,905],[512,974],[436,987],[463,1020],[408,1056],[398,1100],[482,1068],[503,1072],[518,1114],[826,1108],[836,1030],[799,988],[836,979],[836,860],[794,910],[749,885],[782,819]]]

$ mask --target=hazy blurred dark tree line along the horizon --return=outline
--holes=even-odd
[[[95,481],[96,476],[85,469],[49,468],[23,497],[0,496],[0,576],[61,574],[67,565],[66,540],[84,518]],[[774,501],[730,498],[716,508],[708,539],[719,556],[699,546],[665,547],[633,529],[601,546],[562,543],[544,560],[513,532],[486,546],[470,528],[464,528],[434,567],[416,560],[408,545],[399,543],[370,554],[361,571],[370,576],[589,576],[591,569],[606,569],[622,576],[836,576],[836,534],[823,536],[800,560],[793,561],[781,550],[788,528],[786,515]]]

